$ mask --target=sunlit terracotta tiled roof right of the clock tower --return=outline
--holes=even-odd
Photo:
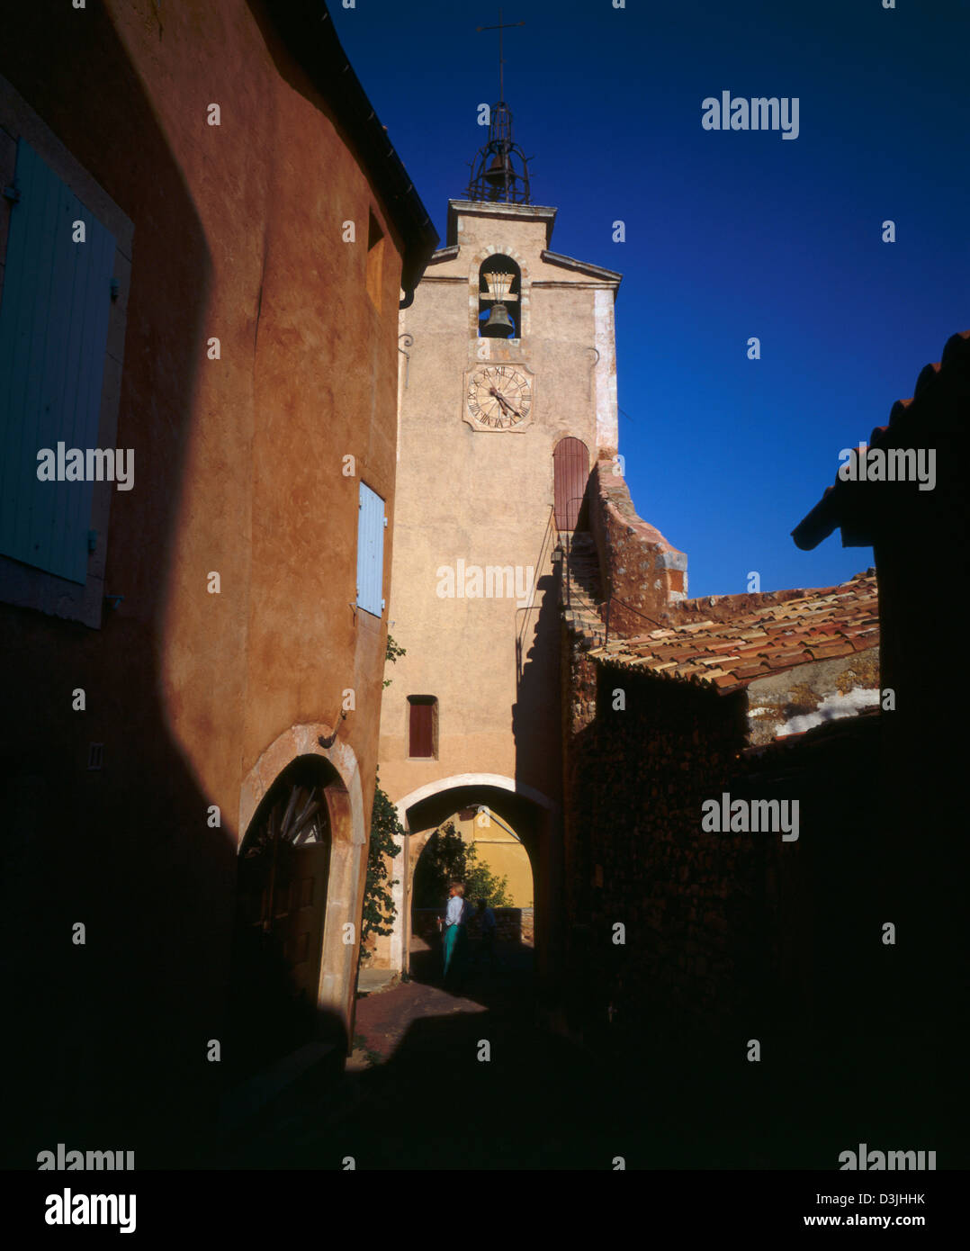
[[[839,587],[785,592],[785,597],[752,608],[750,595],[724,595],[714,600],[705,620],[635,638],[611,637],[589,654],[601,664],[696,682],[728,694],[798,664],[879,646],[879,593],[871,570]]]

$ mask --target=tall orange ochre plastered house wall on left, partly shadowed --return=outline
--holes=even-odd
[[[0,604],[4,771],[25,779],[14,809],[36,846],[24,932],[45,1001],[86,1040],[78,1115],[88,1106],[116,1133],[218,1098],[219,1066],[199,1047],[222,1030],[241,792],[258,762],[294,727],[325,726],[356,762],[358,837],[374,793],[386,613],[354,607],[358,492],[362,478],[392,518],[401,240],[258,15],[242,0],[41,3],[19,15],[4,64],[134,224],[116,442],[134,449],[135,485],[111,499],[105,572],[124,599],[100,631]],[[369,211],[388,241],[380,313],[365,291]],[[390,562],[389,527],[385,599]],[[70,712],[79,686],[84,716]],[[94,773],[92,741],[105,744]],[[354,846],[331,893],[359,919]],[[98,985],[119,987],[116,1002],[59,981],[58,936],[78,916],[98,936],[91,967],[110,953]],[[352,971],[328,995],[346,1003],[349,988]],[[58,1073],[61,1031],[42,1002],[30,1011],[36,1063]],[[75,1096],[46,1085],[62,1137],[58,1110]]]

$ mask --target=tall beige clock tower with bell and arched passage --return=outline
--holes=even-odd
[[[380,781],[408,837],[379,967],[408,968],[414,871],[449,819],[495,844],[479,859],[499,876],[521,857],[515,903],[524,917],[534,906],[539,968],[555,961],[555,552],[591,468],[616,454],[620,284],[554,251],[555,219],[531,203],[511,110],[499,103],[465,198],[449,201],[446,245],[401,313],[389,622],[405,654],[388,669]]]

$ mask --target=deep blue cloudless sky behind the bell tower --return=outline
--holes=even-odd
[[[479,0],[330,0],[442,243],[484,143]],[[620,450],[690,594],[841,582],[872,563],[790,530],[841,448],[970,328],[970,3],[505,0],[505,95],[552,248],[624,274]],[[800,134],[705,131],[701,100],[798,96]],[[611,241],[615,219],[626,241]],[[898,241],[881,241],[881,223]],[[761,360],[746,340],[761,340]]]

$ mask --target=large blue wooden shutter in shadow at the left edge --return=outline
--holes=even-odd
[[[88,580],[90,482],[40,482],[38,452],[98,447],[115,240],[22,139],[0,293],[0,552]],[[85,243],[72,241],[84,221]]]

